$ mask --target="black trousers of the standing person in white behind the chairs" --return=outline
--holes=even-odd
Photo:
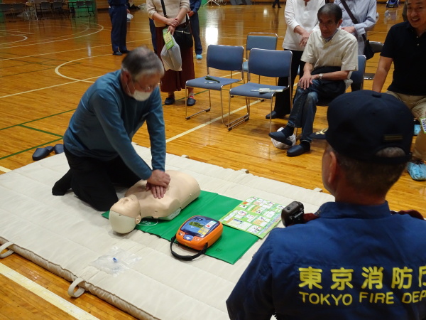
[[[290,51],[293,53],[291,58],[291,83],[288,83],[287,78],[278,78],[278,85],[290,85],[290,90],[277,93],[275,97],[274,110],[280,117],[284,116],[285,114],[290,114],[290,97],[293,97],[293,85],[295,83],[297,71],[300,70],[299,77],[302,78],[303,68],[305,67],[305,62],[300,60],[300,58],[302,58],[303,51]]]

